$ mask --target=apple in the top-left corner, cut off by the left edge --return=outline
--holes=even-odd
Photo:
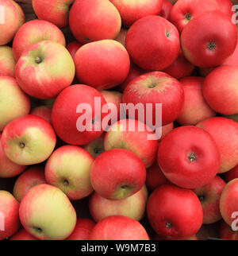
[[[4,11],[0,22],[0,45],[6,45],[12,41],[17,30],[25,22],[25,14],[21,6],[12,0],[0,0],[0,6]]]

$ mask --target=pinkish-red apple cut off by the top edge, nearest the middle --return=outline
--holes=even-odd
[[[141,17],[159,15],[163,0],[110,0],[117,7],[121,15],[122,24],[126,27],[131,26]]]

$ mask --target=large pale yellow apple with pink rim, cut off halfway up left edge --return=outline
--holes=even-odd
[[[29,96],[21,90],[17,81],[10,76],[0,76],[0,131],[13,119],[29,114]]]

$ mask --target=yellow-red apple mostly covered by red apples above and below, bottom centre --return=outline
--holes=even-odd
[[[148,190],[145,185],[136,194],[122,200],[107,200],[94,192],[89,201],[90,215],[96,223],[112,215],[122,215],[140,221],[144,216],[147,199]]]

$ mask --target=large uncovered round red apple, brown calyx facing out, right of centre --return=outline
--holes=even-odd
[[[167,134],[159,143],[157,161],[167,179],[182,188],[208,184],[221,164],[215,140],[196,126],[181,126]]]

